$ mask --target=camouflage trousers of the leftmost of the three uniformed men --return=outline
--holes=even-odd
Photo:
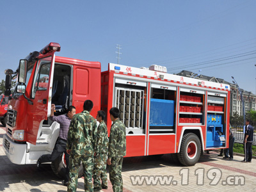
[[[83,164],[84,169],[84,191],[93,192],[92,172],[93,156],[70,156],[69,159],[69,180],[67,192],[73,192],[77,189],[77,179],[79,167]]]

